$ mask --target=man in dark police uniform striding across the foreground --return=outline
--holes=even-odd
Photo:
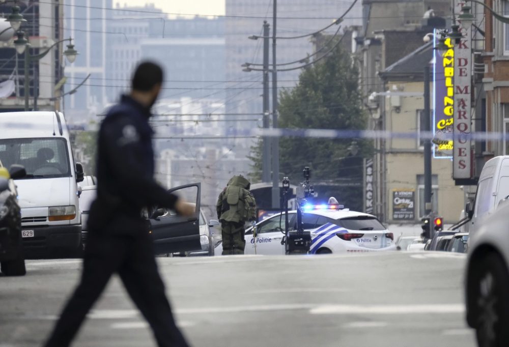
[[[47,347],[68,346],[112,274],[149,322],[159,346],[188,346],[177,328],[154,258],[146,206],[192,215],[195,206],[159,186],[154,176],[150,108],[163,81],[151,62],[137,66],[130,95],[122,96],[101,124],[98,137],[97,198],[89,217],[89,238],[81,280],[56,323]]]

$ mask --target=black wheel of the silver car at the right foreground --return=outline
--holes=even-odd
[[[500,255],[488,253],[478,257],[470,268],[468,286],[479,347],[509,345],[509,276]]]

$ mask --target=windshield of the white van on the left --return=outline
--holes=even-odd
[[[70,177],[71,166],[64,138],[0,139],[0,163],[23,165],[24,179]]]

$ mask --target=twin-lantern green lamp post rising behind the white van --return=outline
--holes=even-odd
[[[17,39],[14,40],[14,46],[16,48],[16,52],[18,54],[23,54],[23,53],[25,54],[25,62],[24,62],[25,63],[24,64],[24,69],[25,69],[25,71],[24,71],[24,75],[25,75],[25,77],[24,77],[25,78],[24,93],[25,93],[25,95],[24,95],[24,98],[25,98],[25,111],[28,111],[29,110],[29,98],[30,98],[30,91],[29,91],[29,89],[30,89],[30,85],[29,85],[30,62],[38,62],[44,56],[46,56],[46,54],[48,54],[49,51],[53,47],[55,47],[59,43],[65,42],[65,41],[69,41],[69,44],[67,45],[67,49],[63,52],[63,55],[67,58],[67,61],[69,63],[71,63],[71,64],[74,63],[74,61],[76,60],[76,55],[79,53],[76,51],[76,49],[74,49],[74,45],[72,44],[72,39],[68,38],[68,39],[56,41],[42,53],[31,55],[30,49],[27,49],[27,48],[30,48],[30,43],[28,40],[25,39],[24,33],[17,32],[16,34],[17,34]]]

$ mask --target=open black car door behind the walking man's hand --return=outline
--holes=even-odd
[[[151,235],[156,254],[200,250],[201,183],[191,183],[169,189],[188,203],[195,204],[193,216],[180,216],[173,210],[155,207],[150,215]]]

